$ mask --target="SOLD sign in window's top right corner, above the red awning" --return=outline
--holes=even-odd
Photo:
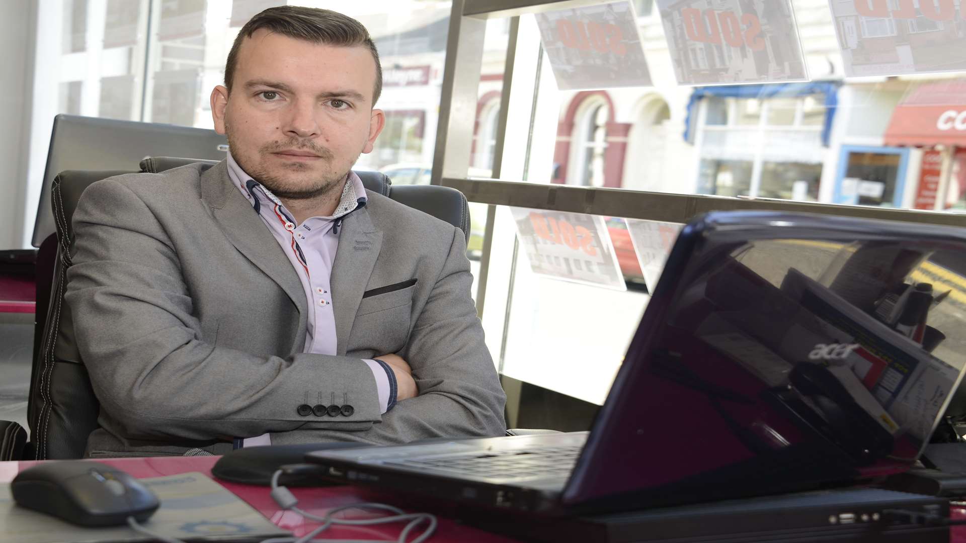
[[[966,69],[966,2],[829,0],[829,6],[848,76]]]

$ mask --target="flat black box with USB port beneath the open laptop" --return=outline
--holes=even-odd
[[[893,520],[902,509],[949,516],[947,500],[879,489],[815,491],[646,511],[534,519],[488,515],[462,519],[525,541],[602,543],[756,543],[803,541],[946,542],[950,529]]]

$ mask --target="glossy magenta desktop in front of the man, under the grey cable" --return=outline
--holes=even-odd
[[[124,470],[138,478],[160,477],[184,472],[202,472],[211,476],[212,466],[217,462],[218,458],[217,456],[171,456],[157,458],[99,459],[98,462],[113,466],[119,470]],[[0,462],[0,482],[10,482],[18,472],[26,470],[37,463],[36,461]],[[247,501],[249,505],[265,515],[276,526],[291,530],[296,536],[304,535],[319,526],[319,523],[303,519],[298,513],[279,510],[278,505],[269,496],[268,487],[218,482],[241,498],[241,500]],[[380,496],[352,486],[292,488],[291,490],[296,498],[298,498],[298,507],[300,509],[319,516],[324,516],[328,509],[334,507],[365,501],[390,502],[407,510],[422,510],[407,507],[402,503],[402,500],[393,500],[391,496]],[[354,511],[346,511],[343,514],[347,516],[359,515],[359,513]],[[512,539],[494,535],[480,529],[460,525],[456,521],[443,518],[439,515],[438,517],[440,521],[439,528],[437,528],[436,534],[429,539],[432,543],[464,543],[470,541],[480,543],[512,543],[513,541]],[[374,527],[333,526],[321,533],[319,537],[327,539],[395,540],[399,536],[399,532],[403,526],[401,523]],[[416,530],[416,533],[419,533],[419,531]]]

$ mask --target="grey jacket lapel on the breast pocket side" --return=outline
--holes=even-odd
[[[335,312],[336,355],[346,354],[355,312],[369,284],[369,276],[376,267],[382,245],[383,232],[373,226],[369,208],[346,215],[339,233],[339,248],[335,251],[330,279],[332,310]]]

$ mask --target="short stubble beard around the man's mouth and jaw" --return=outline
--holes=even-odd
[[[228,124],[225,124],[225,133],[228,136],[228,148],[229,150],[241,149],[236,145],[236,139],[232,137],[232,130],[229,129]],[[257,181],[268,188],[272,194],[278,198],[284,200],[313,200],[318,198],[333,197],[333,193],[336,190],[341,190],[343,183],[346,181],[349,175],[349,169],[347,168],[344,172],[333,172],[326,175],[325,173],[318,174],[315,178],[302,178],[293,180],[291,178],[286,178],[282,172],[270,172],[267,168],[260,165],[260,163],[265,163],[268,159],[272,159],[272,153],[278,151],[284,151],[287,149],[298,149],[301,151],[310,151],[315,155],[321,157],[327,165],[332,166],[335,157],[332,152],[322,147],[321,145],[315,143],[311,140],[289,138],[287,140],[279,141],[275,140],[266,145],[263,145],[258,150],[258,156],[261,160],[253,159],[249,160],[248,157],[239,156],[232,153],[232,157],[241,166],[241,169],[245,173],[250,175],[252,179]],[[357,158],[357,157],[356,157]],[[355,160],[353,160],[355,163]],[[308,164],[301,162],[292,162],[286,166],[283,166],[288,172],[297,174],[298,172],[304,172],[302,175],[308,175]]]

